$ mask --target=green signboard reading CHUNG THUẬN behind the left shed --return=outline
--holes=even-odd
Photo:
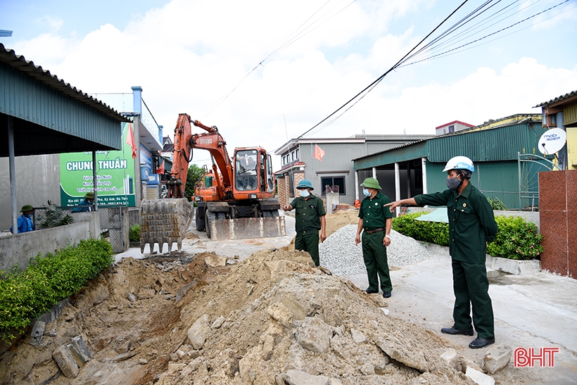
[[[122,123],[122,150],[96,151],[99,206],[135,206],[132,123]],[[133,142],[134,143],[134,142]],[[76,206],[94,189],[92,152],[60,154],[61,206]]]

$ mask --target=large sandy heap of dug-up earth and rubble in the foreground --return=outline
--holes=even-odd
[[[241,263],[215,253],[129,258],[71,298],[46,324],[41,343],[27,343],[29,334],[6,351],[0,378],[53,385],[470,384],[455,362],[441,358],[458,348],[388,317],[386,308],[382,296],[315,268],[300,251],[258,251]],[[77,336],[91,359],[68,378],[52,353]]]

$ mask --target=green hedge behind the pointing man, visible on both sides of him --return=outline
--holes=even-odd
[[[393,229],[400,234],[419,241],[449,246],[449,225],[439,222],[414,220],[426,213],[411,213],[393,218]],[[522,217],[495,217],[497,236],[488,244],[487,253],[493,257],[517,260],[538,258],[543,253],[537,225],[526,222]]]

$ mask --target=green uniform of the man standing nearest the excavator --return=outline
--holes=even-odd
[[[295,249],[307,251],[315,265],[319,266],[320,217],[326,215],[322,199],[310,194],[306,200],[303,197],[294,198],[291,206],[296,210]]]

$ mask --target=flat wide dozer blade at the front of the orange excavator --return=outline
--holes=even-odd
[[[236,218],[210,221],[210,239],[247,239],[285,236],[284,217]]]

